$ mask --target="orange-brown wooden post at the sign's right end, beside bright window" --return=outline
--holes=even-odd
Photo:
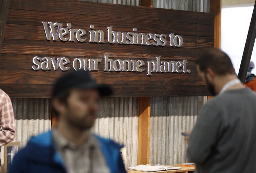
[[[220,48],[221,0],[210,0],[210,13],[214,13],[214,47]]]

